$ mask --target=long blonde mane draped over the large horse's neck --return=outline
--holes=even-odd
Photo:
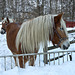
[[[35,48],[39,49],[40,43],[44,46],[49,41],[49,36],[53,37],[53,22],[51,18],[54,19],[54,15],[49,14],[24,22],[16,37],[17,50],[19,44],[21,44],[21,50],[24,53],[35,52]]]

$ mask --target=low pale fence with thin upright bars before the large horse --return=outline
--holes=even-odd
[[[61,55],[62,53],[62,55]],[[20,56],[23,57],[23,64],[24,64],[24,56],[28,56],[28,58],[30,58],[30,56],[34,56],[34,59],[35,59],[35,55],[37,55],[39,57],[39,60],[38,60],[38,66],[41,66],[40,63],[41,63],[41,55],[45,55],[47,54],[48,55],[48,63],[49,65],[51,64],[51,61],[53,61],[53,65],[56,64],[55,60],[57,60],[57,64],[60,65],[60,58],[62,57],[62,63],[65,62],[65,58],[64,56],[66,55],[66,61],[69,61],[69,56],[70,56],[70,61],[72,61],[72,54],[75,53],[75,50],[73,51],[56,51],[56,52],[46,52],[46,53],[31,53],[31,54],[19,54],[19,55],[8,55],[8,56],[0,56],[0,58],[4,58],[4,69],[5,71],[7,70],[7,67],[6,67],[6,58],[10,57],[11,59],[11,69],[13,68],[12,66],[12,57],[16,57],[16,59]],[[53,58],[50,57],[50,55],[53,54]],[[70,55],[69,55],[70,54]],[[55,56],[57,55],[57,57]],[[68,56],[69,55],[69,56]],[[45,66],[46,64],[43,63],[43,66]],[[35,66],[35,65],[34,65]]]

